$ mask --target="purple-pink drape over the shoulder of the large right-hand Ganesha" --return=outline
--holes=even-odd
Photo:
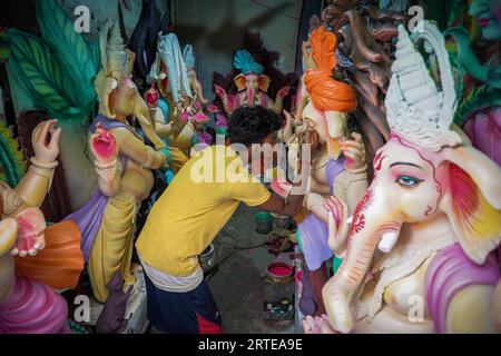
[[[425,290],[435,333],[446,333],[448,308],[459,291],[471,285],[498,284],[500,270],[491,257],[479,266],[468,258],[459,244],[454,244],[433,258],[426,271]]]

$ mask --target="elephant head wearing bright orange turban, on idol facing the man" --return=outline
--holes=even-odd
[[[315,29],[308,39],[311,51],[306,60],[308,70],[304,83],[310,101],[302,117],[306,125],[318,134],[318,140],[327,144],[328,155],[337,159],[341,155],[338,140],[345,137],[347,115],[356,108],[355,91],[348,85],[335,80],[334,51],[336,37],[324,27]]]

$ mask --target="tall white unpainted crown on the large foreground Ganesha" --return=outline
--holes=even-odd
[[[436,26],[424,21],[415,39],[428,41],[440,66],[442,91],[431,78],[422,56],[414,48],[405,28],[399,26],[393,76],[386,93],[387,122],[393,134],[411,142],[439,151],[456,146],[460,136],[451,130],[456,100],[454,81],[443,37]]]

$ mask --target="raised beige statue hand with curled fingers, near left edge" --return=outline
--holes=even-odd
[[[58,120],[40,122],[31,134],[35,157],[42,164],[51,164],[59,156],[59,140],[62,129],[55,129]]]

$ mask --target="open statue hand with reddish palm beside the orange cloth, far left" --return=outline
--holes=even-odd
[[[35,256],[46,247],[46,218],[38,208],[28,208],[14,216],[18,221],[18,239],[11,255]]]

